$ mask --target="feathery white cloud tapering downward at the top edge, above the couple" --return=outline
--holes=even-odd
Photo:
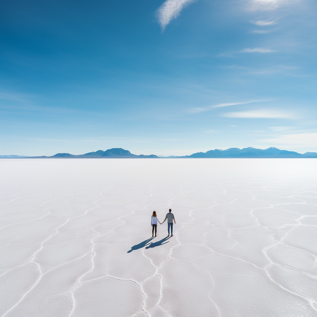
[[[156,11],[156,16],[162,31],[166,28],[166,25],[171,22],[172,19],[176,19],[180,12],[190,3],[196,0],[167,0]]]

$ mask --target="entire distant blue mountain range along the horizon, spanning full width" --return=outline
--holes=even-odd
[[[98,150],[96,152],[88,152],[81,155],[73,155],[69,153],[57,153],[53,156],[20,156],[20,155],[0,155],[0,159],[18,159],[18,158],[29,158],[29,159],[106,159],[106,158],[122,158],[122,159],[160,159],[160,158],[317,158],[316,152],[306,152],[304,154],[293,152],[293,151],[286,151],[280,150],[276,147],[269,147],[268,149],[261,150],[256,149],[254,147],[246,147],[243,149],[239,149],[237,147],[231,147],[227,150],[210,150],[207,152],[197,152],[191,155],[185,156],[157,156],[154,154],[151,155],[136,155],[132,154],[128,150],[124,150],[121,148],[113,148],[108,149],[106,151]]]

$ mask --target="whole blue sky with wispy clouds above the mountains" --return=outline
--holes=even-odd
[[[315,1],[0,7],[1,155],[317,151]]]

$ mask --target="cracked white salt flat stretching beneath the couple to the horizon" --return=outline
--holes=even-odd
[[[315,159],[0,169],[0,316],[317,316]]]

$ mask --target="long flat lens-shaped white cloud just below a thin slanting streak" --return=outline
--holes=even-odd
[[[295,119],[293,113],[276,111],[271,109],[249,110],[241,112],[224,113],[227,118],[248,118],[248,119]]]

